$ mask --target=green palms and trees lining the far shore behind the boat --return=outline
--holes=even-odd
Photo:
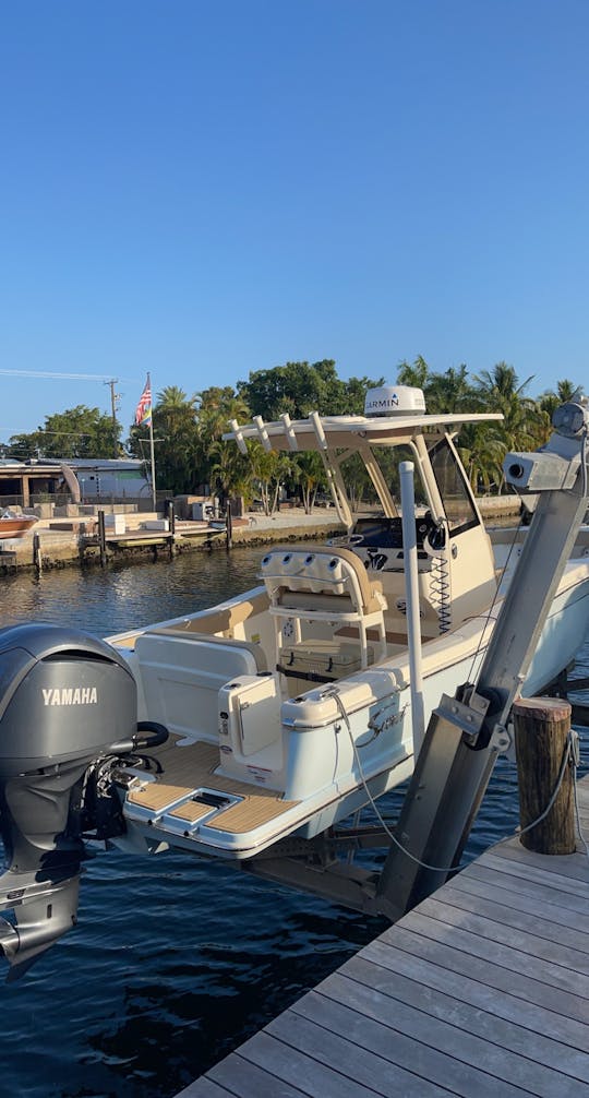
[[[394,384],[422,390],[429,414],[501,413],[501,422],[466,424],[457,437],[466,475],[479,496],[506,491],[505,455],[543,446],[552,433],[555,407],[577,390],[574,381],[562,379],[554,390],[529,396],[533,377],[520,381],[507,362],[474,374],[464,363],[437,372],[418,356],[412,362],[401,361],[390,373],[396,373]],[[268,452],[260,441],[250,439],[247,452],[240,452],[224,434],[230,423],[250,423],[257,416],[270,422],[285,413],[291,419],[306,418],[310,411],[363,415],[367,390],[384,383],[384,378],[367,377],[344,381],[333,359],[286,362],[253,371],[248,381],[237,381],[235,388],[212,385],[192,395],[174,384],[152,394],[148,382],[128,437],[123,437],[125,428],[114,413],[106,415],[97,407],[79,405],[47,416],[31,434],[11,436],[8,444],[0,444],[0,457],[63,462],[133,457],[144,462],[148,479],[155,468],[158,495],[216,496],[222,504],[241,496],[246,508],[258,498],[267,514],[273,514],[279,498],[286,497],[299,500],[306,512],[313,512],[327,488],[318,453]],[[154,435],[157,447],[151,463]],[[352,462],[348,471],[353,502],[370,503],[370,478],[356,466]]]

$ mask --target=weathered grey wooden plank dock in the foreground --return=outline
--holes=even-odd
[[[491,848],[178,1098],[588,1098],[581,851]]]

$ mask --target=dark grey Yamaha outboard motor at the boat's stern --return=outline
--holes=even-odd
[[[131,669],[75,629],[0,629],[0,948],[9,978],[76,923],[84,839],[122,834],[113,775],[167,739],[137,725]]]

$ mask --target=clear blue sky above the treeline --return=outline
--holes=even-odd
[[[147,370],[589,383],[588,57],[587,0],[4,4],[0,369],[125,436]]]

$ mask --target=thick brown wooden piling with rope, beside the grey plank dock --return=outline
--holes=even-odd
[[[551,810],[523,833],[542,816],[556,789],[568,752],[570,713],[570,704],[563,698],[522,697],[513,705],[520,842],[539,854],[573,854],[576,847],[573,766],[568,761]]]

